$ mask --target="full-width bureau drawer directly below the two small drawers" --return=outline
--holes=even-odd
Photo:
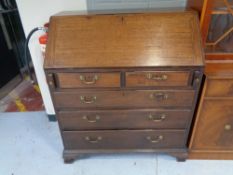
[[[54,92],[56,107],[191,107],[194,90]]]

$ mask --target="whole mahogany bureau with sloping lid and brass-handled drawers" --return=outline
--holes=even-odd
[[[185,160],[203,66],[194,12],[52,16],[44,68],[64,161],[120,152]]]

